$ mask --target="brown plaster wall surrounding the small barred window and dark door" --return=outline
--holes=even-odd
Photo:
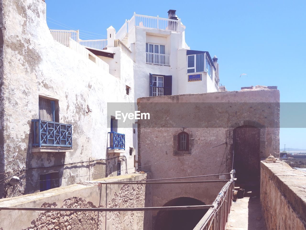
[[[241,102],[256,103],[253,108],[246,108]],[[266,105],[260,102],[271,102],[271,107],[263,109]],[[150,179],[230,172],[230,130],[244,125],[244,121],[253,121],[253,125],[256,121],[264,127],[261,140],[265,148],[261,149],[261,157],[279,152],[278,90],[147,97],[138,98],[137,104],[138,110],[150,113],[150,120],[138,121],[138,167],[151,171]],[[176,151],[176,136],[182,131],[190,138],[190,151],[184,155]],[[195,180],[219,180],[219,176]],[[155,185],[151,188],[152,205],[162,206],[177,197],[191,197],[210,205],[222,186],[224,182]]]

